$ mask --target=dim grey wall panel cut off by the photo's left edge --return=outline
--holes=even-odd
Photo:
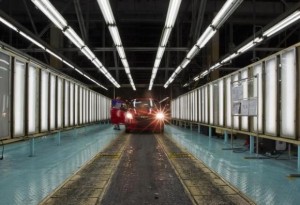
[[[10,57],[0,52],[0,139],[9,136],[10,111]]]

